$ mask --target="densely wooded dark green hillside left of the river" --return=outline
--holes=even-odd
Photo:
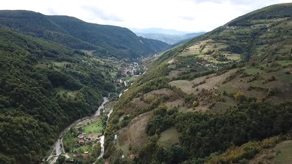
[[[115,89],[112,64],[2,27],[0,56],[1,164],[38,164],[60,130]]]

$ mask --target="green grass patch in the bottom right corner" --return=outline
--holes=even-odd
[[[275,160],[281,164],[292,164],[292,140],[283,141],[274,148],[275,150],[280,150]]]

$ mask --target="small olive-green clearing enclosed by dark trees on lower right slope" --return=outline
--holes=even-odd
[[[172,143],[177,143],[179,141],[179,132],[175,127],[170,127],[162,131],[158,139],[158,143],[165,147],[169,147]]]

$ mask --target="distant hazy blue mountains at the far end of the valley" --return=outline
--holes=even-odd
[[[141,36],[147,39],[153,39],[158,41],[163,41],[168,44],[175,44],[177,42],[191,39],[199,35],[205,34],[205,32],[200,33],[190,33],[190,34],[181,34],[181,35],[169,35],[169,34],[160,34],[160,33],[135,33],[137,36]]]

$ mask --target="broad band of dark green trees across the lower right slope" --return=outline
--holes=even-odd
[[[175,125],[179,131],[180,143],[163,149],[157,143],[161,131]],[[178,164],[188,159],[201,163],[213,153],[222,153],[233,146],[241,146],[249,141],[259,141],[274,135],[286,133],[292,126],[292,102],[279,105],[257,103],[255,98],[241,100],[236,108],[222,113],[178,113],[159,107],[147,124],[146,130],[153,135],[139,152],[140,164]],[[253,148],[249,148],[254,150]],[[251,158],[257,152],[243,155],[230,155],[225,158],[213,158],[213,162],[228,164]],[[234,152],[236,154],[236,152]],[[248,156],[250,153],[250,156]],[[227,154],[228,155],[228,154]],[[151,159],[151,160],[150,160]],[[186,163],[187,164],[187,163]],[[198,163],[200,164],[200,163]]]

